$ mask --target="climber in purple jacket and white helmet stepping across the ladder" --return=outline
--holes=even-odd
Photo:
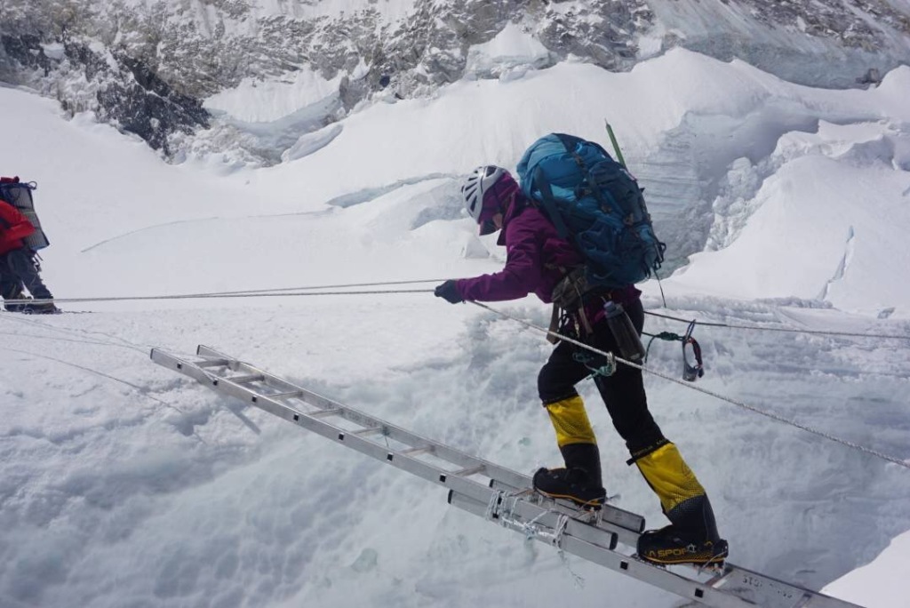
[[[471,217],[480,225],[481,235],[501,230],[497,244],[506,247],[505,268],[480,277],[447,280],[435,289],[435,295],[457,304],[465,300],[519,299],[534,293],[550,303],[566,269],[581,263],[581,254],[560,237],[550,219],[525,197],[504,168],[478,167],[461,194]],[[641,335],[644,309],[641,291],[633,285],[592,290],[581,299],[581,308],[571,314],[571,326],[577,329],[568,332],[582,342],[598,350],[619,352],[603,308],[607,300],[622,304]],[[565,466],[537,471],[534,489],[582,508],[599,509],[606,500],[601,454],[584,402],[575,389],[578,382],[591,376],[591,370],[598,370],[594,384],[613,426],[632,454],[628,463],[642,472],[671,522],[642,533],[639,556],[661,564],[723,562],[728,545],[717,532],[711,502],[648,410],[642,370],[619,365],[611,374],[603,375],[599,370],[605,358],[589,355],[571,342],[561,341],[538,375],[538,393],[556,431]]]

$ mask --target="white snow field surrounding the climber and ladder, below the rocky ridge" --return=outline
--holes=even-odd
[[[685,51],[611,74],[534,70],[532,45],[522,71],[491,48],[509,61],[500,80],[364,106],[269,168],[168,165],[91,116],[0,88],[0,174],[38,183],[43,276],[62,309],[92,311],[0,313],[0,605],[680,605],[148,359],[207,344],[518,471],[557,464],[536,395],[550,345],[431,289],[503,260],[460,212],[462,176],[514,167],[551,131],[608,145],[608,118],[679,267],[665,308],[656,281],[640,286],[646,308],[702,323],[693,386],[854,444],[649,375],[654,416],[709,491],[731,560],[910,606],[910,68],[835,91]],[[238,90],[222,106],[271,119],[313,98],[267,112]],[[427,282],[66,301],[405,280]],[[494,308],[548,318],[532,298]],[[679,342],[655,341],[648,365],[678,377]],[[591,382],[580,389],[608,491],[664,525]]]

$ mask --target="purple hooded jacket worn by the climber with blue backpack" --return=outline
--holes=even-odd
[[[456,282],[464,299],[501,301],[524,298],[533,292],[549,304],[553,288],[564,276],[564,270],[581,264],[581,254],[560,238],[556,228],[540,209],[527,204],[521,191],[515,193],[503,218],[499,245],[506,246],[506,265],[500,272]],[[614,293],[614,299],[628,303],[638,299],[641,291],[632,287]],[[601,304],[592,303],[591,322],[601,317]]]

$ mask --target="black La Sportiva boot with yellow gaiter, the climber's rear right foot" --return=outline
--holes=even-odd
[[[642,533],[638,555],[653,563],[720,564],[727,542],[717,532],[708,496],[695,474],[670,441],[659,441],[643,455],[633,454],[671,525]]]

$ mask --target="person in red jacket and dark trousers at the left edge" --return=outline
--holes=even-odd
[[[0,199],[0,296],[4,301],[25,299],[23,289],[27,289],[35,299],[54,299],[38,274],[34,253],[23,242],[23,238],[33,232],[35,227],[28,218]],[[10,312],[59,312],[54,302],[12,302],[6,303],[5,307]]]

